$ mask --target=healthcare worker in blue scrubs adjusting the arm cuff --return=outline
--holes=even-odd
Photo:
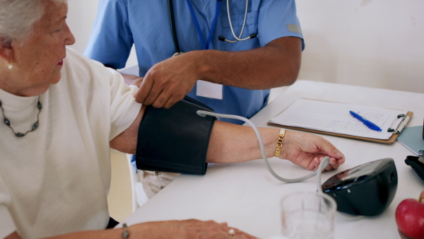
[[[294,0],[100,0],[84,54],[122,69],[133,45],[141,77],[124,78],[139,103],[168,108],[189,95],[247,118],[270,88],[295,82],[304,48]],[[142,177],[152,197],[177,174]]]

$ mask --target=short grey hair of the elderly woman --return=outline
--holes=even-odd
[[[33,24],[44,15],[45,1],[64,4],[66,0],[0,0],[0,40],[25,40]]]

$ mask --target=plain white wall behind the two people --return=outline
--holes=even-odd
[[[98,0],[69,0],[73,48],[80,52],[97,6]],[[424,1],[298,0],[297,6],[306,43],[299,78],[424,92]],[[130,57],[127,66],[136,64],[134,52]]]

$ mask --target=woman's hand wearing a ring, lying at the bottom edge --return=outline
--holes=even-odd
[[[233,229],[234,233],[229,233]],[[199,221],[189,219],[184,221],[156,221],[136,224],[128,228],[131,238],[255,238],[236,228],[230,228],[227,223],[215,221]],[[143,237],[143,234],[147,236]]]

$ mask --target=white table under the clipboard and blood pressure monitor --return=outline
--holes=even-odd
[[[334,83],[297,81],[252,117],[259,127],[298,98],[329,100],[340,103],[373,105],[414,112],[408,126],[423,124],[424,94],[389,91],[379,88],[346,86]],[[346,156],[338,170],[322,175],[322,182],[343,170],[380,158],[394,158],[399,184],[396,197],[382,215],[349,217],[336,214],[334,238],[399,238],[394,219],[396,206],[403,199],[418,198],[424,190],[423,180],[404,163],[412,153],[399,142],[379,144],[356,139],[322,135]],[[288,161],[269,159],[283,177],[300,177],[310,173]],[[209,164],[204,176],[182,175],[155,195],[124,222],[132,225],[146,221],[200,220],[227,221],[260,238],[281,235],[280,199],[296,191],[316,191],[316,178],[287,184],[276,180],[262,160],[233,164]]]

